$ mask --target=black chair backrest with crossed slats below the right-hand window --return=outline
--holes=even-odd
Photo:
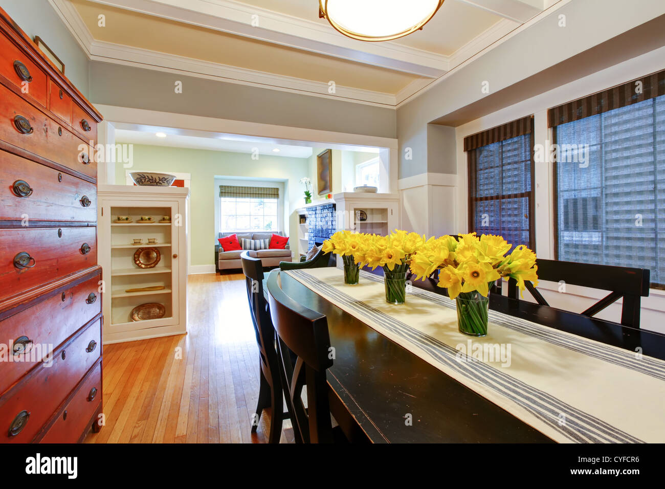
[[[621,324],[634,328],[640,327],[640,297],[649,295],[650,271],[648,269],[541,258],[536,260],[536,265],[538,265],[539,280],[610,291],[608,295],[581,314],[591,317],[623,298]],[[526,282],[525,286],[537,303],[549,305],[543,295],[533,287],[533,283]],[[508,281],[508,296],[519,299],[515,279]]]

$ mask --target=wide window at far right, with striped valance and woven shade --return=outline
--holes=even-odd
[[[549,114],[556,143],[556,258],[646,268],[660,288],[665,285],[664,74]]]

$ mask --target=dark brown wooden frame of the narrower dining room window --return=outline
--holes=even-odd
[[[507,124],[503,124],[501,127],[508,128],[512,122],[509,122]],[[529,249],[531,249],[534,253],[536,251],[536,230],[535,230],[535,161],[534,161],[534,155],[535,155],[535,134],[534,134],[534,118],[533,115],[531,115],[531,130],[527,134],[517,134],[517,135],[511,135],[511,136],[506,136],[505,138],[501,138],[498,141],[493,141],[493,142],[488,142],[487,144],[483,144],[482,146],[477,146],[476,148],[469,149],[466,151],[467,154],[467,226],[469,233],[471,232],[476,232],[478,233],[478,230],[475,229],[475,210],[476,202],[481,202],[485,200],[504,200],[506,198],[521,198],[521,197],[528,197],[528,202],[529,202],[529,243],[522,243],[527,245]],[[473,194],[475,193],[474,191],[474,186],[476,182],[475,178],[475,168],[472,168],[473,162],[471,161],[471,152],[482,148],[483,146],[489,146],[489,144],[494,144],[495,142],[504,142],[509,139],[513,139],[515,137],[519,136],[528,136],[529,138],[529,153],[531,155],[531,158],[529,158],[529,173],[530,173],[530,178],[531,178],[531,190],[529,192],[520,192],[519,194],[499,194],[497,196],[492,196],[491,198],[487,197],[482,197],[482,198],[477,198],[474,197]],[[475,165],[477,166],[477,164]],[[501,160],[501,168],[503,168],[503,155],[502,155],[502,160]]]

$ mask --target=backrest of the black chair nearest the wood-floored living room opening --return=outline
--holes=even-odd
[[[275,329],[268,312],[268,303],[263,295],[263,265],[261,259],[249,256],[248,251],[240,253],[245,274],[247,301],[259,347],[261,370],[271,385],[280,385],[279,359],[275,349]]]

